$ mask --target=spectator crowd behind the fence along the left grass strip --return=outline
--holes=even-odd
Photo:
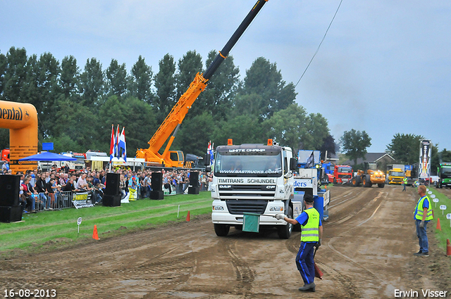
[[[20,175],[19,203],[23,212],[36,212],[41,210],[54,210],[72,207],[70,198],[74,193],[87,192],[94,205],[101,203],[106,187],[106,173],[109,170],[91,170],[90,167],[82,170],[70,171],[68,167],[50,171],[38,169],[27,170]],[[137,199],[149,198],[152,191],[152,170],[133,171],[116,168],[111,172],[121,174],[119,187],[122,198],[129,195],[134,189]],[[168,193],[187,193],[190,185],[190,170],[161,170],[163,174],[162,188]],[[3,174],[12,174],[9,167],[3,167]],[[199,186],[202,191],[208,190],[211,177],[199,173]],[[175,191],[175,192],[174,192]],[[1,192],[1,191],[0,191]]]

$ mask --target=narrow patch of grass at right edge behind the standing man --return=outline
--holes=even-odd
[[[451,213],[451,199],[447,198],[445,194],[440,192],[440,189],[429,188],[432,194],[435,194],[435,198],[438,198],[438,203],[432,202],[432,208],[434,212],[434,219],[432,220],[433,227],[435,229],[435,237],[438,240],[439,247],[443,248],[446,252],[446,239],[451,239],[451,226],[450,220],[446,219],[447,213]],[[426,192],[427,193],[427,192]],[[428,194],[431,198],[431,194]],[[433,198],[431,198],[433,201]],[[446,210],[440,210],[440,205],[446,205]],[[440,219],[441,231],[437,229],[437,222]]]

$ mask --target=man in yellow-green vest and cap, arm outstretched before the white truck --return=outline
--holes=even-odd
[[[321,238],[323,236],[323,225],[319,217],[319,212],[313,207],[313,196],[304,195],[304,212],[296,219],[290,219],[283,214],[277,214],[278,220],[285,220],[293,225],[301,224],[301,246],[296,255],[296,267],[302,276],[304,286],[299,291],[315,291],[315,263],[313,259],[314,248],[321,246]]]

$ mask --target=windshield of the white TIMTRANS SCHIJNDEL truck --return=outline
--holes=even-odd
[[[280,177],[281,165],[280,150],[217,151],[214,174],[217,177]]]

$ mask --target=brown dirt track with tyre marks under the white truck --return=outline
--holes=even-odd
[[[5,289],[56,289],[58,298],[395,298],[395,289],[451,293],[450,259],[436,249],[414,257],[416,193],[400,186],[334,187],[316,264],[316,293],[297,291],[299,232],[280,240],[230,229],[209,217],[86,246],[0,261]],[[102,236],[100,236],[102,238]]]

